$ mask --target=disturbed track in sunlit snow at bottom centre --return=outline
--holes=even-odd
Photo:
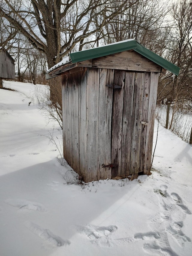
[[[106,227],[98,227],[94,225],[85,225],[85,227],[77,227],[79,233],[85,233],[91,242],[98,245],[110,246],[111,235],[117,230],[114,225]]]

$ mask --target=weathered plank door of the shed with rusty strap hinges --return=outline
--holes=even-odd
[[[114,84],[121,89],[113,89],[111,160],[118,167],[111,169],[112,177],[143,171],[150,73],[115,71]]]

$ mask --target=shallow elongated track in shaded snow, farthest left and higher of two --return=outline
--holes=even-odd
[[[47,210],[41,203],[21,199],[7,199],[5,200],[5,203],[17,207],[19,209],[29,209],[41,212],[45,212]]]

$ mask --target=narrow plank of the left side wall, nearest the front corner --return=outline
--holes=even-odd
[[[80,174],[85,181],[86,175],[86,162],[87,162],[87,131],[86,131],[86,95],[87,95],[87,73],[88,71],[82,71],[81,74],[81,86],[79,87],[79,170]]]

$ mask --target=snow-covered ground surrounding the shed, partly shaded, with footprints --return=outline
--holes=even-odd
[[[191,145],[159,126],[151,176],[78,185],[34,85],[4,87],[17,92],[0,90],[1,256],[192,255]]]

